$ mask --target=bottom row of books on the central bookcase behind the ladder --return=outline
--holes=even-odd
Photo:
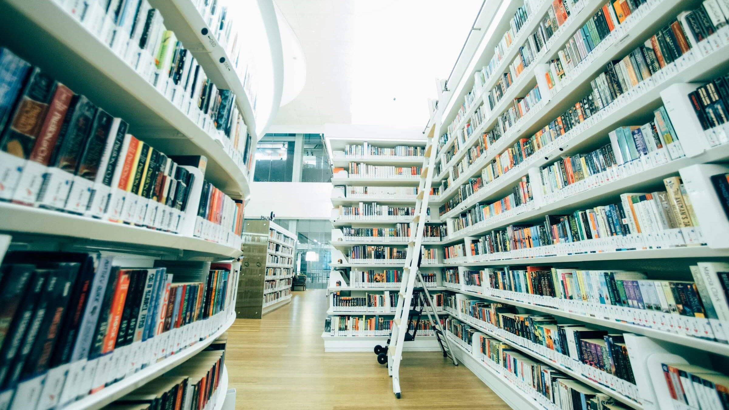
[[[445,319],[441,319],[445,324]],[[408,332],[418,329],[416,335],[435,336],[432,326],[426,320],[408,323]],[[391,317],[378,315],[328,316],[324,320],[324,334],[327,336],[389,336],[392,328]]]

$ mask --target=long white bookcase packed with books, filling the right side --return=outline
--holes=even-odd
[[[514,409],[725,409],[729,7],[494,7],[434,112],[456,354]]]

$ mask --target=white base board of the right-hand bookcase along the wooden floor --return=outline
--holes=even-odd
[[[455,347],[453,352],[456,353],[459,364],[464,364],[481,382],[499,395],[499,398],[505,401],[510,408],[545,410],[545,407],[540,406],[529,394],[516,387],[514,383],[507,380],[486,363],[475,358],[471,352],[456,341],[456,338],[453,336],[446,337],[451,338],[451,346]],[[534,393],[536,394],[536,390],[534,390]]]

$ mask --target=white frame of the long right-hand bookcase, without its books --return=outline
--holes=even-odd
[[[494,4],[494,9],[500,7],[499,11],[504,9],[504,14],[502,18],[492,21],[488,27],[488,32],[493,34],[490,38],[488,36],[484,37],[483,42],[486,47],[483,47],[482,44],[480,48],[480,50],[486,51],[477,51],[473,56],[467,55],[466,59],[473,57],[474,60],[479,62],[488,62],[494,53],[494,45],[499,42],[502,34],[507,31],[515,7],[522,4],[521,1],[517,4],[499,4],[499,2]],[[501,74],[509,71],[508,65],[517,56],[519,47],[527,41],[527,37],[539,26],[542,16],[551,7],[550,1],[532,1],[530,4],[532,12],[529,19],[522,23],[521,30],[516,33],[510,47],[502,52],[502,59],[499,63],[496,63],[491,76],[483,83],[483,87],[478,88],[473,85],[473,74],[475,71],[480,70],[480,67],[475,67],[471,72],[466,72],[463,79],[450,79],[448,88],[456,90],[456,93],[452,97],[450,92],[443,93],[443,98],[438,103],[439,108],[435,111],[434,116],[443,121],[443,126],[438,135],[446,133],[449,125],[454,126],[453,130],[455,132],[449,135],[449,138],[439,149],[440,154],[437,157],[437,163],[442,165],[442,171],[434,178],[434,181],[440,182],[448,179],[449,186],[448,189],[441,189],[440,195],[435,199],[434,208],[451,200],[457,194],[461,185],[468,183],[469,178],[480,177],[483,168],[501,155],[505,149],[512,146],[520,138],[531,137],[537,130],[549,124],[553,119],[564,113],[566,109],[569,109],[579,98],[587,95],[588,91],[591,90],[590,80],[604,71],[607,63],[615,59],[622,59],[628,52],[635,50],[653,33],[667,25],[671,19],[675,19],[679,12],[698,7],[697,4],[689,4],[683,0],[647,1],[647,3],[636,9],[627,20],[617,26],[617,30],[602,39],[598,47],[588,53],[587,58],[582,60],[577,67],[568,69],[565,66],[566,78],[555,89],[543,90],[542,87],[539,87],[542,100],[531,107],[531,110],[521,119],[518,119],[509,130],[502,133],[498,141],[489,144],[488,149],[472,164],[467,165],[465,169],[461,169],[457,178],[453,178],[451,176],[452,168],[459,165],[459,162],[464,159],[469,147],[477,143],[482,133],[490,131],[497,124],[499,116],[507,111],[514,98],[523,97],[539,83],[536,74],[539,65],[557,58],[557,51],[561,50],[575,31],[603,6],[604,1],[585,0],[572,5],[570,7],[571,14],[566,23],[555,32],[542,52],[537,54],[535,60],[518,77],[512,79],[512,84],[504,92],[501,100],[496,102],[494,109],[489,109],[488,92],[494,88]],[[705,84],[717,76],[726,74],[729,69],[728,40],[729,31],[726,28],[720,30],[709,39],[709,42],[714,45],[713,52],[703,52],[701,47],[695,47],[675,63],[669,64],[665,69],[653,74],[650,79],[640,83],[638,87],[634,87],[604,109],[597,111],[587,121],[573,127],[564,135],[559,135],[552,143],[548,143],[530,157],[526,157],[520,164],[511,167],[507,172],[494,178],[493,181],[484,184],[477,192],[471,194],[460,204],[453,206],[453,209],[445,212],[440,218],[437,217],[437,213],[432,213],[432,215],[436,215],[432,216],[434,221],[440,220],[448,224],[448,236],[440,240],[440,245],[464,244],[467,251],[467,256],[442,259],[439,261],[439,265],[451,268],[458,267],[461,272],[464,269],[480,270],[488,267],[509,266],[626,269],[652,272],[649,277],[655,280],[692,280],[688,270],[690,264],[695,264],[697,261],[728,261],[729,248],[727,248],[726,241],[715,238],[719,232],[716,226],[721,226],[721,229],[725,226],[725,215],[720,212],[713,219],[712,216],[707,216],[707,213],[714,212],[718,204],[712,202],[714,201],[710,192],[712,190],[706,188],[706,186],[698,188],[693,186],[694,189],[699,191],[695,197],[693,193],[690,193],[692,200],[694,198],[709,198],[707,201],[701,200],[699,207],[702,209],[702,213],[699,218],[702,221],[701,226],[704,226],[713,236],[706,237],[706,234],[703,234],[703,238],[699,236],[699,243],[688,243],[687,245],[679,240],[674,243],[671,243],[672,240],[667,240],[667,242],[658,244],[650,242],[648,240],[649,235],[642,234],[634,238],[607,238],[601,245],[588,240],[573,243],[573,245],[549,245],[542,249],[539,249],[539,247],[527,248],[478,256],[472,256],[469,251],[469,245],[472,241],[496,229],[504,229],[506,226],[520,224],[531,226],[543,222],[547,215],[566,215],[575,210],[620,202],[620,194],[655,191],[655,188],[662,186],[663,179],[679,176],[679,174],[683,177],[684,183],[687,184],[687,180],[690,179],[688,178],[689,175],[698,175],[698,173],[695,173],[698,168],[692,168],[694,174],[689,174],[689,168],[687,167],[728,162],[729,143],[710,146],[704,141],[704,131],[701,130],[701,127],[698,127],[689,100],[687,98],[677,101],[666,100],[666,98],[677,95],[677,93],[685,96],[687,92],[695,90],[698,85]],[[696,86],[691,87],[688,83],[696,83]],[[459,84],[459,87],[456,87],[456,84]],[[685,84],[685,87],[681,84]],[[464,102],[467,92],[471,90],[473,91],[473,102],[461,110],[461,103]],[[667,90],[674,91],[671,94]],[[684,92],[684,90],[687,91]],[[449,100],[449,98],[453,98],[453,100]],[[485,117],[478,125],[473,125],[474,123],[470,117],[482,104],[485,104]],[[662,162],[651,158],[650,160],[642,160],[640,165],[623,165],[618,167],[617,170],[610,170],[609,175],[604,173],[604,175],[598,175],[577,184],[568,185],[553,194],[535,195],[534,200],[526,202],[526,204],[514,207],[496,216],[492,215],[477,224],[466,226],[463,229],[456,229],[455,222],[459,218],[459,214],[475,208],[477,204],[491,204],[501,200],[511,193],[512,188],[517,186],[524,176],[529,176],[533,191],[541,189],[539,173],[534,173],[534,170],[538,171],[540,167],[551,165],[561,157],[584,154],[599,146],[608,144],[607,135],[610,131],[623,125],[642,125],[648,122],[653,117],[652,111],[661,105],[666,106],[666,109],[671,106],[672,111],[669,113],[671,122],[679,122],[680,124],[679,127],[682,132],[678,134],[679,139],[683,145],[688,147],[685,150],[687,153],[685,157],[678,159],[668,157],[667,161]],[[686,121],[683,119],[686,119]],[[462,130],[467,122],[472,124],[472,133],[468,137],[458,131],[459,129]],[[722,130],[716,132],[716,135],[725,135],[726,130],[727,127],[723,127]],[[711,132],[707,131],[706,133]],[[456,144],[456,141],[459,149],[450,160],[446,161],[445,153]],[[724,172],[725,165],[714,166],[711,170],[715,170],[714,173]],[[535,179],[537,179],[536,184]],[[706,181],[708,181],[708,178],[706,178]],[[486,183],[486,181],[484,182]],[[694,181],[691,181],[691,184],[693,183]],[[710,183],[709,186],[711,186]],[[691,192],[691,186],[687,186],[687,189]],[[709,197],[706,196],[707,192],[709,192]],[[332,200],[335,204],[346,203],[341,198],[336,198],[336,201]],[[708,202],[712,202],[711,206],[704,206]],[[698,229],[701,229],[701,226],[698,226]],[[661,234],[670,236],[675,233],[663,232]],[[701,234],[699,233],[699,235]],[[622,243],[625,245],[626,240],[628,242],[635,240],[635,244],[641,245],[637,246],[636,250],[619,251],[620,248],[631,248],[631,246],[616,246],[620,241],[623,241]],[[708,243],[708,245],[702,245],[703,242]],[[364,244],[375,243],[375,241],[352,238],[352,243]],[[348,240],[342,237],[335,242],[332,238],[332,244],[335,245],[335,248],[346,248]],[[582,264],[585,267],[582,267]],[[349,265],[352,265],[351,261],[343,260],[343,263],[339,266]],[[674,276],[660,277],[661,267],[671,267]],[[682,272],[680,277],[678,276],[679,272]],[[471,299],[483,299],[487,302],[512,305],[517,307],[521,313],[552,315],[560,320],[559,323],[582,323],[585,326],[596,326],[608,331],[614,330],[625,333],[636,379],[635,391],[631,391],[630,394],[626,394],[625,390],[612,389],[604,383],[597,382],[596,376],[605,376],[586,373],[588,369],[581,368],[582,363],[575,362],[572,367],[565,366],[565,363],[560,361],[563,358],[553,355],[557,354],[556,352],[540,350],[541,346],[531,346],[529,344],[531,342],[526,339],[508,334],[489,323],[486,323],[488,326],[484,326],[461,312],[449,312],[453,318],[462,320],[475,330],[486,334],[486,336],[511,344],[519,352],[563,371],[573,379],[593,387],[601,393],[609,395],[623,406],[633,409],[668,409],[669,406],[673,406],[675,409],[688,409],[688,406],[682,407],[681,403],[666,401],[665,397],[670,396],[665,387],[663,373],[660,371],[661,362],[658,360],[674,360],[663,361],[663,363],[686,363],[688,361],[692,364],[701,364],[701,362],[691,361],[691,358],[697,356],[697,353],[703,353],[703,355],[711,353],[711,355],[724,357],[729,355],[727,344],[722,344],[713,339],[701,339],[697,336],[691,336],[689,328],[685,331],[680,328],[677,330],[670,329],[670,325],[668,325],[668,319],[670,318],[667,318],[670,316],[669,314],[662,314],[666,318],[658,315],[658,313],[652,316],[641,315],[637,312],[631,312],[627,307],[623,310],[615,309],[613,312],[607,312],[605,305],[593,306],[590,304],[588,306],[587,302],[580,304],[578,301],[567,302],[563,299],[532,295],[530,293],[499,291],[488,287],[488,277],[485,279],[482,277],[482,281],[483,286],[466,286],[463,284],[464,281],[461,277],[460,284],[445,283],[443,281],[439,285],[445,288],[447,293],[453,292]],[[640,318],[636,320],[636,317]],[[642,318],[646,319],[643,321]],[[693,318],[682,319],[681,323],[693,323],[690,319]],[[658,323],[651,324],[649,320],[658,320]],[[706,321],[708,325],[707,320],[703,321]],[[698,326],[701,319],[696,318],[696,322],[695,326]],[[460,339],[455,340],[453,338],[453,344],[456,344],[456,354],[459,359],[512,408],[558,409],[553,403],[545,402],[536,390],[531,390],[529,386],[522,386],[519,380],[510,378],[512,375],[508,371],[499,369],[496,363],[491,362],[488,358],[481,357],[480,347],[476,345],[476,342],[474,342],[473,347],[461,342]],[[704,363],[709,363],[709,360],[705,360]],[[663,384],[662,389],[659,388],[661,384]]]

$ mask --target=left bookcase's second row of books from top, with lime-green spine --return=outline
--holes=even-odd
[[[252,139],[230,90],[218,90],[148,0],[90,2],[59,0],[96,38],[108,45],[165,98],[223,144],[239,167],[252,165]],[[224,109],[219,106],[223,104]],[[254,105],[254,104],[253,104]],[[221,122],[220,114],[230,119]],[[235,129],[230,126],[235,125]],[[237,130],[237,131],[236,131]]]

